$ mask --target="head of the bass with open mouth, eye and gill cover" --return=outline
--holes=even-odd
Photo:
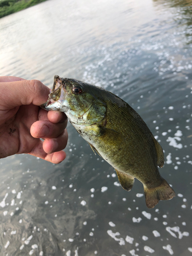
[[[41,108],[65,112],[72,123],[100,123],[105,116],[106,106],[99,99],[97,90],[92,84],[55,76],[48,101]]]

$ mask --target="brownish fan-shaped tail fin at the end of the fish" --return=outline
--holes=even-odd
[[[162,178],[163,179],[163,178]],[[170,200],[175,197],[175,191],[163,179],[160,186],[155,188],[147,188],[144,186],[145,202],[148,208],[154,208],[159,200]]]

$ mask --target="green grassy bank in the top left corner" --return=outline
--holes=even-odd
[[[0,0],[0,18],[46,0]]]

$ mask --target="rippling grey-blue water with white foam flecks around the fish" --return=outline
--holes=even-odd
[[[164,149],[176,197],[154,209],[69,124],[67,158],[1,159],[1,255],[192,255],[190,1],[62,1],[0,19],[2,75],[101,86],[141,115]]]

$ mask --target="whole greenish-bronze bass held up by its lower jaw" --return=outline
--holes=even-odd
[[[159,173],[158,166],[164,165],[161,145],[140,115],[115,94],[55,75],[53,89],[41,108],[65,112],[92,150],[113,166],[125,190],[130,191],[138,179],[148,208],[175,197]]]

